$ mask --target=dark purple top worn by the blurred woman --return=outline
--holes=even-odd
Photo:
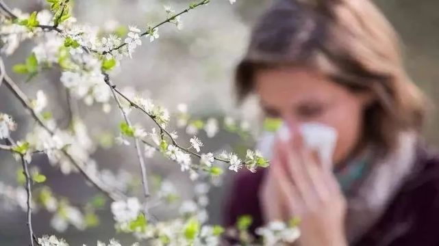
[[[260,184],[264,171],[238,174],[225,209],[225,226],[251,215],[262,226]],[[418,148],[416,165],[384,215],[354,246],[439,246],[439,156]]]

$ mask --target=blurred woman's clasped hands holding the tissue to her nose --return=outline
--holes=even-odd
[[[347,245],[346,202],[334,174],[303,147],[298,131],[275,148],[262,189],[266,221],[299,218],[303,246]]]

